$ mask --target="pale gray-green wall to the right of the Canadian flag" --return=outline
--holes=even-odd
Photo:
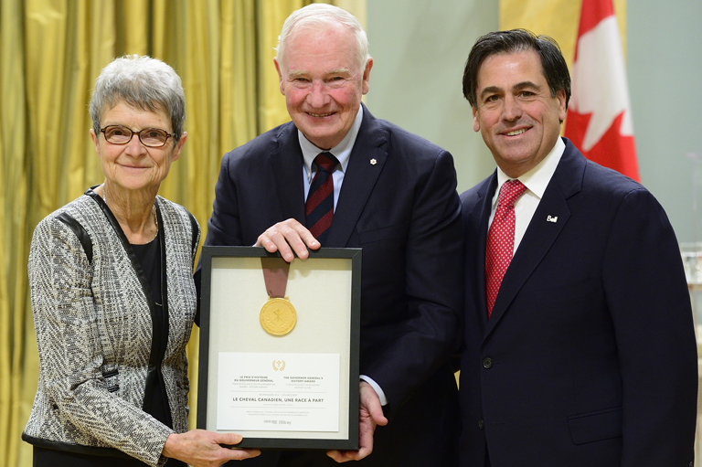
[[[679,241],[702,241],[702,206],[697,235],[692,208],[694,165],[685,155],[702,154],[702,2],[633,0],[626,8],[642,183],[665,207]],[[699,164],[702,174],[702,160]],[[698,184],[699,204],[702,179]]]

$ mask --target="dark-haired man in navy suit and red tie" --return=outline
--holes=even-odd
[[[480,37],[463,93],[497,169],[461,196],[462,465],[692,466],[697,348],[663,208],[559,137],[552,39]]]

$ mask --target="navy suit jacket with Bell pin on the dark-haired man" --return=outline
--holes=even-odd
[[[496,174],[461,196],[462,465],[487,449],[493,467],[687,467],[697,347],[675,233],[644,186],[564,141],[489,321]]]

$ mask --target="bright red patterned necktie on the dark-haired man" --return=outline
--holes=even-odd
[[[500,189],[495,218],[487,233],[485,249],[485,292],[487,317],[493,313],[497,292],[515,250],[515,201],[527,186],[519,180],[508,180]]]

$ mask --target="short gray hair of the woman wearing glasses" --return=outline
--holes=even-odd
[[[96,135],[100,135],[102,112],[121,101],[143,111],[165,111],[176,142],[183,134],[186,94],[176,71],[163,61],[145,55],[125,55],[102,69],[90,99],[90,118]]]

